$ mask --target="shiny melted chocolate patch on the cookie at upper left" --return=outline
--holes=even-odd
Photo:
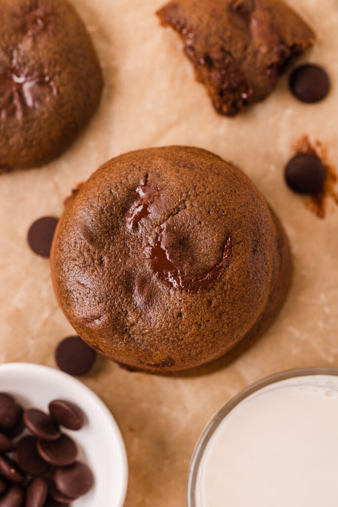
[[[14,116],[22,120],[28,108],[40,107],[44,95],[57,94],[48,76],[29,73],[27,69],[7,68],[0,73],[0,118]]]

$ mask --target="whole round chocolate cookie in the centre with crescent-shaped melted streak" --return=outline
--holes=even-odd
[[[98,169],[68,202],[51,263],[61,308],[89,345],[163,372],[260,332],[290,279],[284,232],[249,178],[184,147]]]

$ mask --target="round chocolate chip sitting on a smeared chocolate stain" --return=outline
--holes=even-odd
[[[316,194],[325,180],[326,169],[315,155],[301,154],[293,157],[285,168],[288,186],[298,194]]]

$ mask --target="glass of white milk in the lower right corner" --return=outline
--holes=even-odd
[[[338,507],[338,369],[256,382],[212,418],[188,507]]]

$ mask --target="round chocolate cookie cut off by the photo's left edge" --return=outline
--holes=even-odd
[[[2,0],[0,173],[58,157],[93,115],[102,74],[67,0]]]

